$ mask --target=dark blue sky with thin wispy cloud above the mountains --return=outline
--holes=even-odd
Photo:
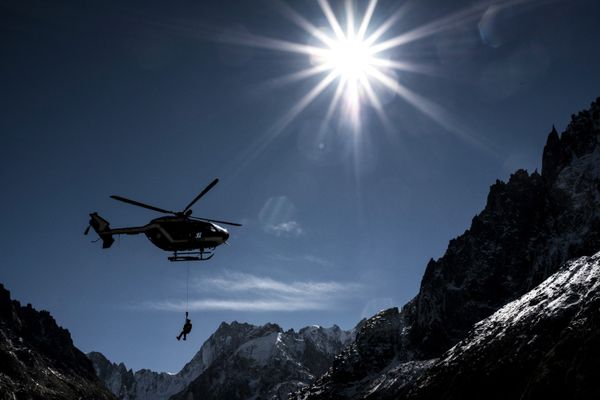
[[[315,2],[287,4],[326,25]],[[380,1],[372,26],[400,4],[388,38],[482,2]],[[230,43],[314,43],[275,2],[0,1],[0,281],[134,369],[177,372],[221,321],[352,328],[412,298],[489,186],[539,168],[552,124],[600,95],[598,20],[594,0],[483,7],[388,53],[433,71],[395,78],[446,127],[388,91],[391,129],[366,106],[360,132],[332,122],[320,140],[332,89],[270,134],[322,77],[272,80],[308,58]],[[179,343],[188,265],[143,236],[102,250],[82,233],[92,211],[115,227],[157,216],[111,194],[178,209],[215,177],[195,215],[244,227],[189,265]]]

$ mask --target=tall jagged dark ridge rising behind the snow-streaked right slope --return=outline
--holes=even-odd
[[[491,186],[471,227],[450,241],[443,257],[428,263],[413,300],[399,313],[388,310],[368,320],[371,334],[359,332],[324,376],[291,397],[394,398],[473,324],[566,261],[600,250],[599,141],[600,99],[573,115],[560,137],[552,130],[541,175],[519,170]],[[388,331],[374,328],[371,322],[378,318],[387,320]],[[373,349],[380,346],[388,350],[375,361]]]

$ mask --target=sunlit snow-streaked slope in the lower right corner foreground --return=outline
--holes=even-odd
[[[389,398],[598,399],[599,381],[597,253],[567,263],[477,323],[415,384]]]

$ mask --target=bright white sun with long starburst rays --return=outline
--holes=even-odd
[[[236,44],[307,56],[309,66],[272,79],[277,86],[320,77],[273,125],[269,136],[281,132],[324,93],[331,95],[324,124],[338,113],[340,121],[350,122],[354,132],[358,133],[363,126],[362,118],[366,115],[365,106],[369,106],[383,125],[391,128],[382,98],[389,98],[389,93],[393,93],[439,124],[454,130],[448,122],[451,118],[440,106],[400,83],[403,73],[429,74],[431,68],[402,59],[399,49],[479,18],[482,6],[460,10],[390,37],[389,32],[393,27],[401,27],[405,11],[402,6],[382,22],[371,24],[377,0],[369,0],[364,9],[357,9],[354,1],[346,0],[343,7],[345,12],[341,15],[336,15],[328,0],[317,0],[317,3],[328,22],[324,28],[317,27],[288,4],[277,3],[285,17],[312,36],[310,44],[254,34],[231,39]],[[382,91],[386,91],[385,96],[382,96]]]

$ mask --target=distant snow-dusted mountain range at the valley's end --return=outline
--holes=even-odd
[[[337,326],[284,332],[278,325],[222,323],[177,374],[133,372],[90,353],[98,376],[123,400],[287,398],[325,372],[352,339]]]

